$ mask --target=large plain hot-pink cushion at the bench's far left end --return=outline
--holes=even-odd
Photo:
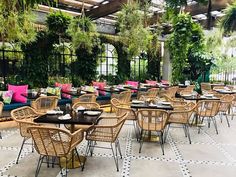
[[[26,103],[28,96],[28,85],[10,85],[8,84],[8,90],[13,91],[12,100],[18,103]],[[24,94],[25,96],[22,96]]]

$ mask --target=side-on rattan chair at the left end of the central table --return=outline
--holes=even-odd
[[[112,109],[115,111],[116,116],[121,116],[124,113],[128,113],[126,120],[132,120],[136,138],[138,139],[139,130],[137,127],[137,116],[133,109],[130,108],[130,105],[122,104],[118,99],[111,99]]]

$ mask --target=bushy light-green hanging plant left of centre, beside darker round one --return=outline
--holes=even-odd
[[[81,48],[91,53],[93,47],[97,45],[96,26],[88,17],[74,18],[69,25],[68,33],[75,49]]]

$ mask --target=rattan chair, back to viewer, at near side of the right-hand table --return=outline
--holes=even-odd
[[[204,119],[208,120],[208,128],[210,128],[210,121],[212,120],[216,134],[218,134],[217,123],[215,116],[219,112],[220,101],[218,100],[201,100],[197,103],[195,112],[197,118],[200,119],[201,123],[203,123]],[[198,133],[200,133],[201,127],[199,126]]]

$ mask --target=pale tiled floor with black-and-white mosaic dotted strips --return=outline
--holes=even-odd
[[[138,153],[131,122],[126,122],[120,134],[123,159],[119,161],[120,171],[109,150],[95,149],[93,157],[88,157],[84,171],[70,169],[69,177],[235,177],[236,176],[236,120],[231,127],[226,121],[218,120],[219,135],[213,124],[203,127],[198,134],[196,127],[190,128],[192,144],[184,136],[182,128],[171,128],[165,143],[165,155],[162,155],[159,143],[144,142],[142,152]],[[19,164],[15,159],[22,138],[16,128],[2,130],[0,139],[0,176],[33,177],[38,154],[26,146]],[[83,154],[86,141],[78,146]],[[59,168],[47,168],[42,165],[40,177],[60,177]]]

